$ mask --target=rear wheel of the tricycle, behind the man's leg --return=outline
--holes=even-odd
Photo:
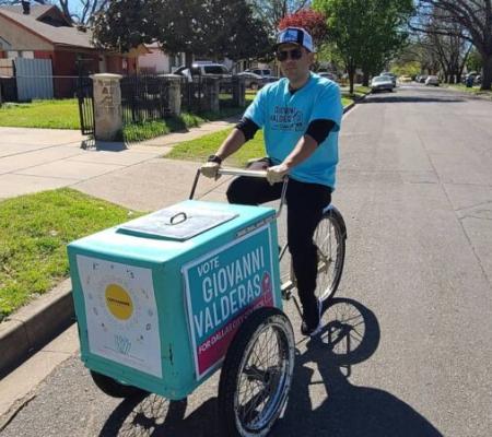
[[[341,214],[330,206],[321,217],[314,235],[318,248],[318,276],[315,294],[325,303],[333,297],[340,284],[345,259],[345,226]]]

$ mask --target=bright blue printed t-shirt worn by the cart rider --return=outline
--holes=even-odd
[[[321,184],[335,189],[338,163],[338,131],[343,107],[339,86],[311,73],[307,83],[295,93],[283,78],[263,86],[244,114],[263,129],[267,155],[280,164],[295,147],[313,120],[328,119],[336,126],[316,151],[290,172],[293,179]]]

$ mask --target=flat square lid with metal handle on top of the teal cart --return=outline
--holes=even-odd
[[[132,220],[117,232],[150,238],[184,241],[219,226],[238,214],[196,205],[177,204]]]

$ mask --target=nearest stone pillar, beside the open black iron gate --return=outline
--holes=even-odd
[[[93,74],[95,139],[113,141],[122,129],[120,74]]]

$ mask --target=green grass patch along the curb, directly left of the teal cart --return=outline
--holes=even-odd
[[[67,244],[136,217],[67,188],[0,202],[0,321],[69,274]]]

